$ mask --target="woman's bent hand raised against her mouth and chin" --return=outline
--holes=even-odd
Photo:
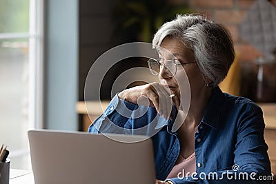
[[[124,90],[118,94],[119,99],[139,105],[150,105],[165,119],[170,117],[172,110],[172,97],[166,85],[149,83]]]

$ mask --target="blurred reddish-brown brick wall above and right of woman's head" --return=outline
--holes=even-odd
[[[255,0],[189,0],[186,3],[192,10],[206,14],[208,18],[225,25],[232,34],[235,49],[240,54],[239,61],[252,62],[262,54],[239,37],[238,26],[254,2]]]

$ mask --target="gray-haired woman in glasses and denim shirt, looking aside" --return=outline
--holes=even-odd
[[[179,15],[159,28],[152,45],[159,59],[148,64],[160,83],[119,92],[89,132],[133,133],[154,124],[157,183],[254,183],[271,175],[262,110],[218,87],[235,59],[226,28]]]

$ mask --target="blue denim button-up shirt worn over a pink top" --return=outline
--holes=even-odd
[[[121,110],[126,110],[126,113],[121,114]],[[145,113],[136,117],[134,114],[137,111]],[[166,121],[157,114],[155,108],[128,103],[118,99],[116,95],[103,114],[90,125],[88,132],[135,134],[138,127],[152,123],[147,129],[159,130],[151,137],[155,152],[156,178],[164,181],[175,165],[180,150],[177,132],[172,132],[177,114],[175,107],[172,114],[172,120]],[[125,129],[118,129],[117,126]],[[248,99],[223,93],[218,87],[214,88],[195,133],[196,174],[170,178],[170,181],[271,183],[271,180],[259,180],[259,176],[271,176],[264,126],[259,106]],[[147,134],[147,131],[144,134]],[[250,177],[250,174],[254,176]]]

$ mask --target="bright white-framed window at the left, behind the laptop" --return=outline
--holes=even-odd
[[[30,169],[28,134],[42,127],[43,0],[0,0],[0,144]]]

